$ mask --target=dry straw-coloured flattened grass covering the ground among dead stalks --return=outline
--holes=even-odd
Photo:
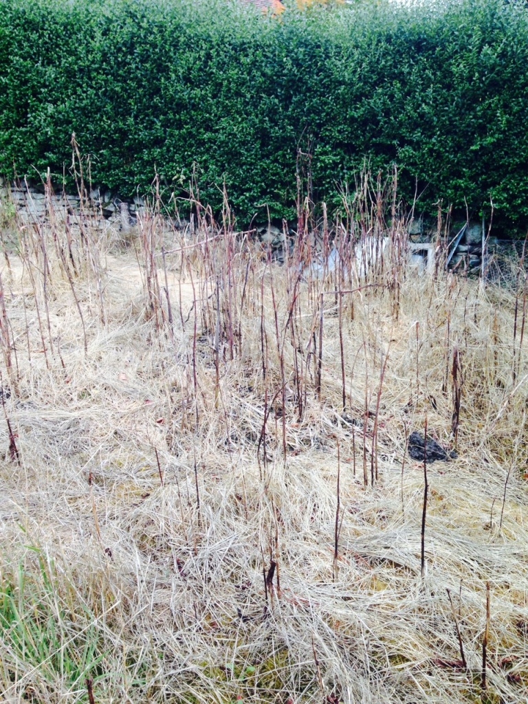
[[[511,287],[400,262],[325,294],[318,394],[320,294],[357,289],[353,272],[298,277],[301,255],[165,232],[171,326],[162,230],[146,219],[119,249],[22,227],[8,248],[3,700],[526,700],[522,291],[515,341]],[[422,576],[406,436],[427,417],[454,447],[455,349],[459,457],[427,465]]]

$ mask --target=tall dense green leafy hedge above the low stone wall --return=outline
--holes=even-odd
[[[459,0],[263,18],[227,0],[0,0],[0,172],[68,174],[122,196],[193,170],[249,222],[339,204],[365,159],[401,194],[528,218],[528,10]],[[486,206],[486,203],[488,204]],[[260,215],[259,215],[260,213]]]

